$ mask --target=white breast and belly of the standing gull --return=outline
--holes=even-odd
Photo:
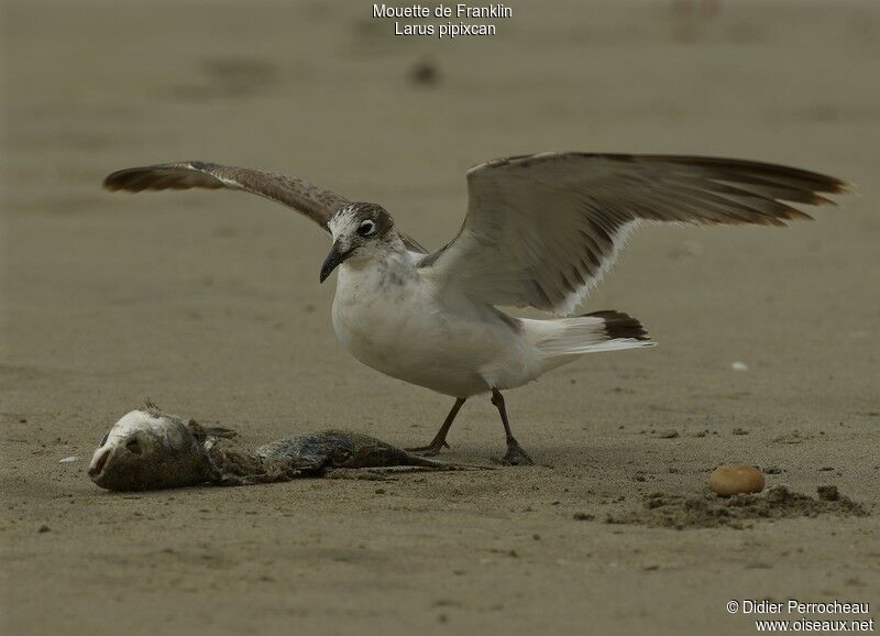
[[[364,364],[447,395],[468,397],[530,380],[509,326],[487,308],[453,305],[408,262],[346,262],[337,279],[333,329]],[[499,377],[512,372],[517,377]]]

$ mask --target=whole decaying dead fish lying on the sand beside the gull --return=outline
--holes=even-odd
[[[261,446],[254,452],[218,443],[234,436],[231,429],[204,427],[151,403],[113,425],[95,451],[88,474],[103,489],[133,491],[202,483],[249,485],[322,476],[334,469],[463,468],[345,430],[299,435]]]

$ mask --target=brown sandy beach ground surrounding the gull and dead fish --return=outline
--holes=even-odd
[[[750,634],[729,600],[876,607],[880,4],[684,4],[512,3],[498,35],[449,42],[395,37],[367,3],[7,2],[0,630]],[[451,406],[337,343],[307,220],[232,193],[111,195],[107,173],[279,169],[436,248],[468,166],[544,150],[791,163],[859,196],[785,230],[637,233],[584,310],[627,311],[660,347],[509,392],[534,468],[88,480],[146,396],[253,445],[328,427],[425,443]],[[450,442],[453,461],[501,457],[487,399]],[[702,497],[729,461],[869,514],[605,523]]]

